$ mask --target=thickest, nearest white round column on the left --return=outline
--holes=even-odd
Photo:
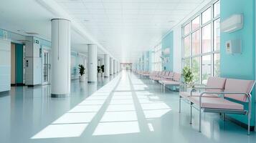
[[[70,94],[70,21],[52,19],[52,97]]]

